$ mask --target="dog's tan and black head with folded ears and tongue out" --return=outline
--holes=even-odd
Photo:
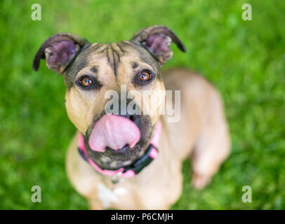
[[[164,26],[140,29],[130,41],[119,43],[89,43],[62,33],[41,45],[33,68],[37,71],[45,59],[49,69],[63,76],[67,114],[84,135],[92,160],[100,165],[131,161],[146,148],[164,104],[164,94],[154,92],[164,90],[161,66],[172,57],[168,48],[172,41],[185,52],[179,38]],[[152,94],[138,100],[146,90]],[[126,96],[132,91],[135,99],[130,101]],[[114,92],[118,100],[110,97]],[[122,102],[123,94],[126,102]],[[150,97],[156,103],[146,106]]]

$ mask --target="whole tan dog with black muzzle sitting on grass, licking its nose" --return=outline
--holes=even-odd
[[[230,153],[230,135],[218,91],[187,69],[161,66],[171,59],[169,45],[185,46],[171,29],[154,25],[119,43],[89,43],[74,34],[48,38],[34,57],[45,59],[65,81],[67,115],[77,127],[67,151],[67,176],[91,209],[169,209],[181,195],[182,163],[190,158],[192,186],[211,182]],[[180,119],[167,114],[107,113],[106,93],[180,90]],[[152,94],[151,112],[168,100]],[[125,108],[124,108],[125,107]]]

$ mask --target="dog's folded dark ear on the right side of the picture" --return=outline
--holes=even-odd
[[[130,41],[143,45],[159,60],[161,65],[171,59],[173,55],[173,52],[168,48],[171,42],[174,42],[181,51],[186,52],[185,46],[173,31],[159,25],[140,29]]]

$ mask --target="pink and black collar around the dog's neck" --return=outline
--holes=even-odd
[[[147,149],[147,152],[145,155],[143,155],[142,158],[139,158],[138,160],[135,160],[132,165],[129,165],[128,167],[121,167],[117,170],[107,170],[107,169],[101,169],[98,165],[93,162],[90,158],[88,158],[85,144],[84,144],[84,138],[80,132],[78,132],[78,141],[79,141],[79,153],[81,154],[82,158],[86,160],[88,163],[94,167],[96,171],[98,171],[100,174],[104,175],[110,175],[113,176],[113,183],[117,183],[119,179],[122,177],[124,178],[131,178],[135,176],[135,174],[138,174],[143,168],[145,168],[147,165],[152,162],[155,158],[157,158],[157,146],[159,144],[159,137],[161,134],[161,121],[157,123],[157,127],[155,127],[155,132],[152,137],[152,140],[150,141],[150,146]]]

